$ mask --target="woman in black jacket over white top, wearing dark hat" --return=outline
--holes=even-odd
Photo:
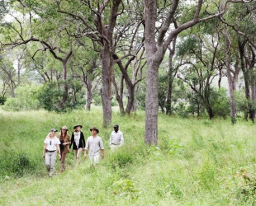
[[[81,163],[80,156],[85,147],[85,140],[81,129],[83,126],[81,124],[77,124],[73,127],[74,131],[71,135],[71,143],[69,144],[69,148],[73,145],[73,153],[77,159],[77,164]]]

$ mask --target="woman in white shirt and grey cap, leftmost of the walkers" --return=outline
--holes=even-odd
[[[59,152],[59,159],[61,159],[60,149],[59,149],[59,138],[55,136],[56,129],[50,129],[50,133],[45,138],[45,146],[43,150],[43,158],[45,158],[45,166],[49,171],[49,176],[53,176],[55,172],[55,162],[57,156],[57,150]]]

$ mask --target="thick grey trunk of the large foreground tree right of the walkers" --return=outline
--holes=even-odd
[[[156,1],[145,0],[145,48],[147,58],[146,96],[145,96],[145,143],[158,143],[159,113],[159,64],[156,63],[154,28],[156,21]]]

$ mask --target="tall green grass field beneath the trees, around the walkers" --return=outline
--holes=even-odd
[[[100,130],[105,158],[97,170],[68,154],[66,171],[49,178],[42,160],[44,139],[63,125],[83,124],[88,137]],[[112,125],[125,146],[111,152]],[[102,110],[69,114],[6,112],[0,108],[0,205],[255,205],[255,125],[243,120],[183,119],[159,115],[159,145],[144,143],[145,113],[112,114],[102,128]]]

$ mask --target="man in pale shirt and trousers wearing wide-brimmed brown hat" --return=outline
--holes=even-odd
[[[85,149],[84,149],[84,158],[87,157],[87,152],[89,150],[89,157],[90,157],[90,162],[92,166],[96,169],[99,159],[100,159],[100,150],[102,151],[102,159],[104,158],[104,146],[102,142],[102,138],[97,135],[99,133],[99,130],[97,127],[93,127],[90,129],[92,135],[88,137],[86,144],[85,144]]]

